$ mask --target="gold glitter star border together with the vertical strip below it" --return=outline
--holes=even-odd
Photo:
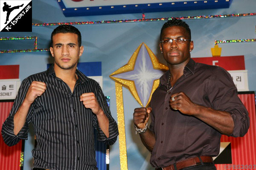
[[[131,92],[131,94],[134,96],[134,98],[137,100],[137,102],[140,103],[140,105],[142,105],[142,102],[140,101],[140,98],[138,96],[134,81],[116,78],[116,77],[113,77],[113,75],[124,73],[127,71],[132,71],[134,69],[134,65],[136,63],[136,59],[137,59],[138,53],[139,53],[142,45],[145,45],[145,48],[149,54],[149,57],[151,59],[154,69],[162,70],[162,71],[168,70],[168,67],[166,65],[163,65],[158,61],[157,57],[154,55],[154,53],[151,51],[151,49],[148,48],[148,46],[145,43],[141,43],[139,45],[139,47],[135,50],[135,52],[132,54],[128,63],[126,65],[122,66],[121,68],[117,69],[116,71],[114,71],[109,76],[113,81],[115,81],[115,86],[116,86],[116,110],[117,110],[117,122],[118,122],[118,130],[119,130],[120,170],[128,169],[122,86],[124,86],[125,88],[128,88],[128,90]],[[159,79],[154,80],[147,106],[151,100],[151,96],[152,96],[153,92],[158,87],[158,85],[159,85]]]

